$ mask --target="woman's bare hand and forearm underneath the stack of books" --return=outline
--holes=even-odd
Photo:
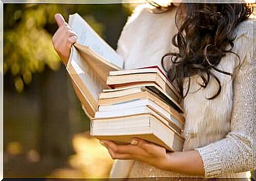
[[[107,147],[113,159],[137,159],[163,170],[204,176],[203,160],[197,150],[166,153],[164,147],[138,138],[132,139],[128,145],[117,145],[109,140],[100,143]]]

